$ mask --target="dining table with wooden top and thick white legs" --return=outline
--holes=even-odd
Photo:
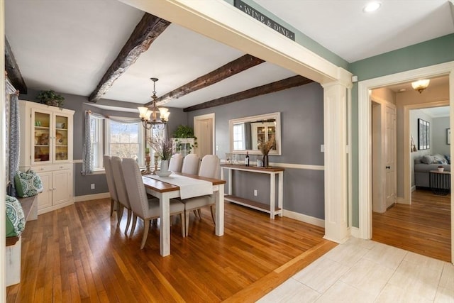
[[[216,236],[223,236],[224,234],[224,184],[225,180],[211,179],[206,177],[200,177],[198,175],[189,175],[182,172],[172,172],[172,175],[181,175],[190,177],[198,180],[204,180],[213,184],[213,194],[216,198]],[[177,185],[165,182],[165,178],[162,180],[156,180],[147,175],[142,176],[143,184],[145,185],[146,192],[151,194],[160,200],[159,211],[160,211],[160,255],[165,257],[170,255],[170,199],[180,197],[179,187]],[[183,223],[182,223],[183,224]]]

